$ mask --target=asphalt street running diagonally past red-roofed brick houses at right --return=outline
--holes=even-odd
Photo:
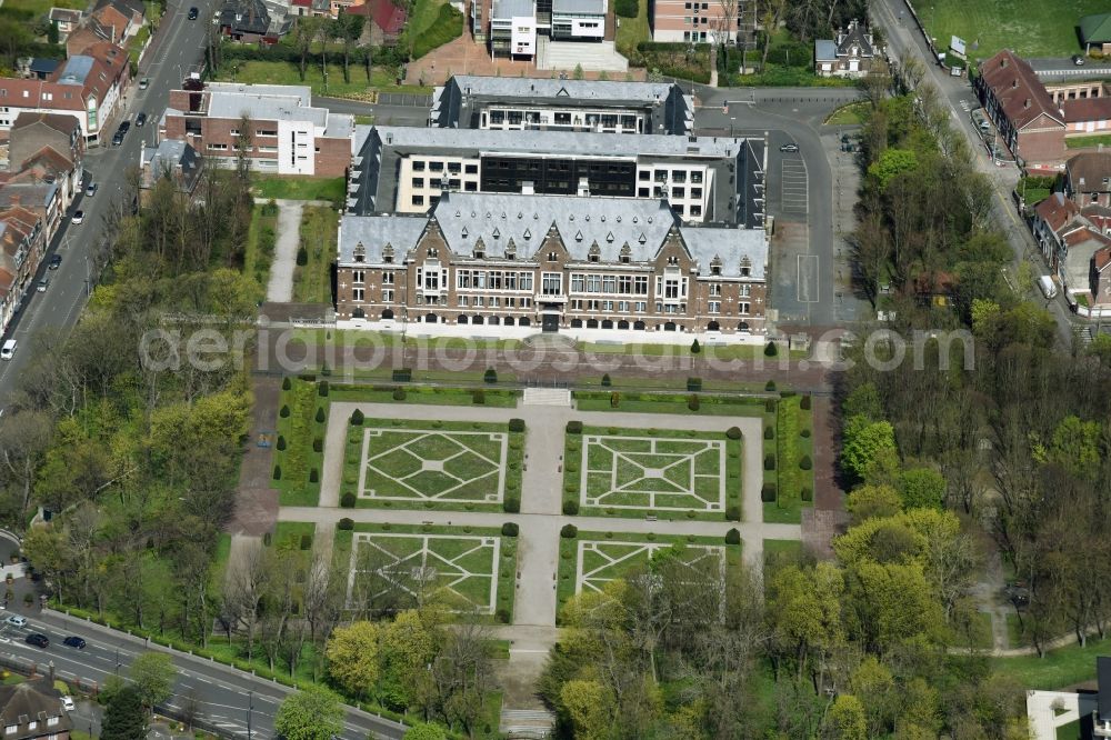
[[[950,113],[958,131],[961,131],[975,152],[975,163],[981,172],[988,176],[988,180],[994,190],[992,212],[999,228],[1007,234],[1014,253],[1014,262],[1008,271],[1008,280],[1013,284],[1015,266],[1022,260],[1028,260],[1034,267],[1035,274],[1044,274],[1048,268],[1038,252],[1033,237],[1029,229],[1019,218],[1011,201],[1011,192],[1019,180],[1019,171],[1013,164],[997,166],[987,151],[983,142],[977,132],[972,120],[968,114],[968,108],[979,106],[975,93],[965,78],[950,77],[941,69],[933,59],[922,33],[914,26],[909,12],[903,11],[903,0],[877,0],[872,3],[872,11],[877,20],[884,27],[891,56],[901,59],[903,53],[910,53],[922,62],[925,70],[924,80],[931,81],[944,99],[949,102]],[[900,18],[899,13],[903,11]],[[1075,318],[1069,310],[1064,296],[1059,294],[1055,300],[1045,301],[1041,298],[1033,282],[1029,286],[1019,286],[1018,289],[1031,298],[1042,301],[1047,310],[1053,316],[1058,327],[1058,336],[1063,347],[1072,346],[1072,336]]]

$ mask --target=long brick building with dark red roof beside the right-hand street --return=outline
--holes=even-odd
[[[1024,60],[1004,49],[980,62],[973,88],[1002,143],[1028,168],[1064,161],[1064,113]]]

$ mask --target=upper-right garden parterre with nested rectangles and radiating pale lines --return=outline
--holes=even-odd
[[[565,436],[563,501],[580,514],[739,519],[741,487],[741,441],[724,432],[585,427]]]

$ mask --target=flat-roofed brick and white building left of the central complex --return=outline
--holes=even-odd
[[[234,167],[244,117],[251,168],[276,174],[340,177],[351,161],[354,119],[312,106],[308,87],[189,81],[170,91],[159,140],[189,143],[207,166]]]

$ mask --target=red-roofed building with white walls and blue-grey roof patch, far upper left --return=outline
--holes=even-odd
[[[108,44],[71,56],[49,80],[0,78],[0,133],[21,112],[72,116],[87,141],[98,140],[129,80],[127,54]]]

